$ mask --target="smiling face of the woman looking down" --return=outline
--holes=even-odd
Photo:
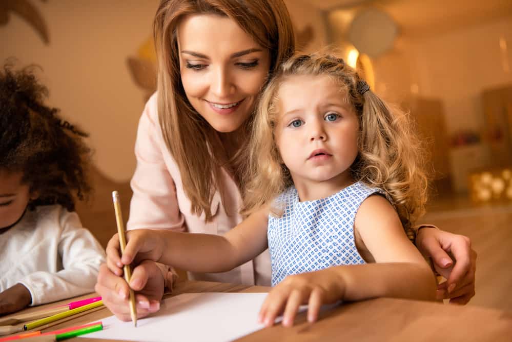
[[[232,19],[192,15],[177,31],[181,82],[190,104],[218,132],[251,115],[270,69],[270,53]]]

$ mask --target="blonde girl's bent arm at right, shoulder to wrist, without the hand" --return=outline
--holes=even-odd
[[[372,254],[375,264],[343,271],[345,299],[435,299],[434,274],[405,235],[398,214],[387,199],[370,196],[364,200],[356,214],[354,230]],[[368,274],[373,281],[366,283]]]

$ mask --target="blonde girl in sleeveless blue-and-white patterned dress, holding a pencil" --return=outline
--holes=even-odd
[[[435,298],[434,275],[404,228],[426,201],[427,179],[407,116],[385,104],[342,59],[299,55],[263,91],[247,150],[247,218],[224,236],[167,230],[114,236],[107,264],[145,259],[225,272],[267,247],[272,286],[259,319],[301,304],[308,319],[339,299]],[[193,251],[193,252],[191,252]]]

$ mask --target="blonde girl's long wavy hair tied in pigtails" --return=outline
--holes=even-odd
[[[279,120],[279,86],[294,75],[328,75],[339,84],[359,119],[359,153],[351,166],[353,179],[383,189],[392,199],[404,229],[411,227],[424,213],[428,179],[424,172],[425,150],[408,114],[386,104],[367,86],[364,91],[358,89],[365,85],[363,79],[343,59],[329,54],[292,57],[281,65],[263,91],[248,150],[242,213],[250,214],[270,203],[293,184],[279,155],[274,127]]]

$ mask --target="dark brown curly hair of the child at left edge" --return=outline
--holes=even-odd
[[[24,184],[40,205],[59,204],[74,210],[74,196],[86,199],[90,149],[86,133],[43,104],[48,89],[37,82],[33,66],[0,70],[0,168],[22,172]]]

